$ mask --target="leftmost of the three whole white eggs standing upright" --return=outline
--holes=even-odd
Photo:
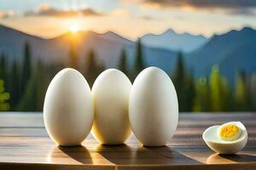
[[[60,145],[77,145],[90,133],[93,122],[90,87],[83,75],[71,68],[55,75],[44,99],[44,125]]]

